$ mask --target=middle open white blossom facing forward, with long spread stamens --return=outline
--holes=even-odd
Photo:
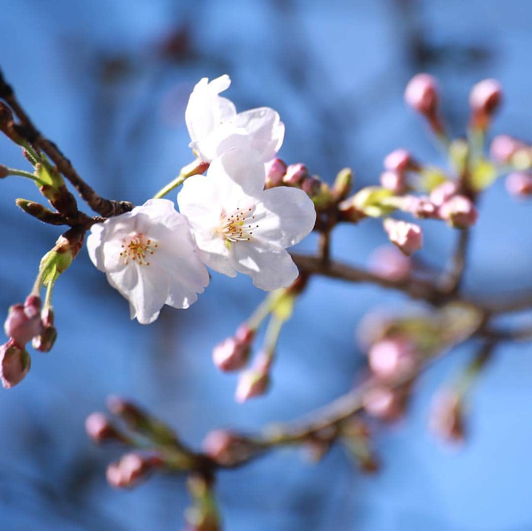
[[[302,190],[264,190],[265,170],[253,151],[232,150],[215,159],[205,176],[190,177],[177,197],[205,263],[230,277],[250,275],[270,291],[298,275],[286,247],[314,227],[314,204]]]

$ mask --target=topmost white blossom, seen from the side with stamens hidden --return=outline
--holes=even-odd
[[[262,162],[276,156],[285,136],[279,114],[269,107],[259,107],[237,114],[235,105],[219,96],[231,84],[227,74],[210,83],[202,78],[188,100],[185,121],[190,147],[198,158],[212,162],[231,148],[253,149]]]

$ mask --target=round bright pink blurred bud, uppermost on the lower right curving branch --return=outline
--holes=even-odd
[[[375,376],[387,379],[411,372],[416,355],[412,344],[402,338],[382,339],[371,346],[368,362]]]

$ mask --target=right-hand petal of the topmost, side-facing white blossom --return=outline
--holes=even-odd
[[[260,154],[262,162],[273,159],[282,146],[285,125],[279,113],[270,107],[258,107],[238,113],[232,123],[244,128],[252,137],[252,147]]]

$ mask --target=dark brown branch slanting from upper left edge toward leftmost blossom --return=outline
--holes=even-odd
[[[63,155],[60,149],[51,140],[41,135],[16,98],[13,88],[4,80],[2,71],[0,71],[0,98],[11,107],[19,118],[20,126],[17,126],[19,134],[26,138],[30,144],[40,147],[50,157],[57,169],[78,190],[79,195],[90,208],[104,218],[128,212],[133,208],[134,205],[129,201],[104,199],[79,176],[70,160]]]

